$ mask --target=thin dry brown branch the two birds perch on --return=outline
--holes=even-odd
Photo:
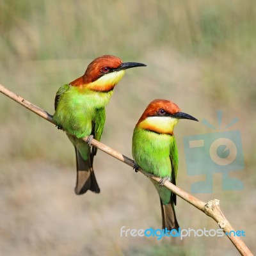
[[[29,102],[28,100],[25,100],[22,97],[20,97],[19,95],[11,92],[10,90],[5,88],[1,84],[0,84],[0,92],[3,93],[4,95],[6,95],[7,97],[10,97],[10,99],[15,100],[16,102],[18,102],[20,105],[24,106],[25,108],[28,108],[29,110],[33,111],[38,116],[41,116],[42,118],[45,118],[46,120],[48,120],[49,122],[54,124],[54,122],[52,120],[52,115],[50,115],[49,113],[44,111],[44,109],[38,108],[37,106],[35,106],[31,102]],[[86,141],[87,137],[85,137],[83,140]],[[103,152],[109,154],[110,156],[113,156],[116,159],[122,161],[123,163],[128,164],[129,166],[131,166],[133,168],[134,161],[132,161],[132,159],[130,159],[129,157],[124,156],[120,152],[117,152],[115,149],[109,148],[108,146],[106,146],[103,143],[101,143],[97,140],[94,140],[94,139],[92,140],[92,145],[94,147],[99,148]],[[150,179],[156,180],[157,182],[160,181],[160,178],[148,175],[148,173],[145,173],[141,169],[139,171],[141,173],[143,173],[144,175],[150,176],[149,177]],[[215,220],[218,223],[218,225],[220,226],[220,228],[222,228],[222,230],[225,234],[230,234],[230,231],[234,230],[232,225],[230,225],[230,223],[228,222],[227,218],[225,218],[224,214],[221,212],[220,200],[214,199],[214,200],[210,200],[209,202],[205,203],[202,200],[199,200],[198,198],[196,198],[195,196],[190,195],[186,191],[184,191],[184,190],[180,189],[179,187],[173,185],[168,180],[166,180],[166,182],[164,183],[164,186],[166,188],[170,189],[171,191],[173,191],[173,193],[175,193],[177,196],[184,199],[186,202],[195,206],[197,209],[204,212],[205,214],[207,214],[207,216],[209,216],[213,220]],[[228,236],[228,238],[234,244],[234,246],[236,246],[237,250],[239,251],[239,253],[241,253],[241,255],[246,255],[246,256],[247,255],[253,255],[252,252],[250,252],[250,250],[246,246],[246,244],[244,244],[241,237],[239,237],[239,236]]]

